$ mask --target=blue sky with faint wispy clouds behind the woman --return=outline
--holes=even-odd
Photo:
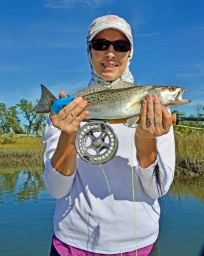
[[[57,97],[87,86],[87,31],[92,20],[117,14],[135,37],[130,70],[135,84],[187,88],[194,113],[204,104],[204,1],[0,0],[0,102],[40,98],[40,83]]]

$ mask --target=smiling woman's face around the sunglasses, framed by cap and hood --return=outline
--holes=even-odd
[[[104,29],[94,39],[106,39],[109,41],[127,40],[126,36],[117,29]],[[129,57],[128,52],[116,52],[113,45],[106,51],[96,51],[91,48],[92,65],[99,77],[106,81],[118,79],[126,69]]]

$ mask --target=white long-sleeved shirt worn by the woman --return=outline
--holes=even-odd
[[[119,149],[111,161],[103,164],[111,195],[98,165],[77,157],[77,170],[71,176],[61,175],[52,168],[51,158],[61,131],[49,119],[44,138],[45,186],[48,193],[57,199],[55,236],[71,246],[103,254],[120,253],[120,250],[131,252],[156,241],[160,207],[154,166],[159,164],[163,195],[170,188],[175,168],[172,127],[168,134],[157,137],[156,163],[146,169],[142,169],[136,159],[134,129],[123,124],[112,127],[119,140]],[[131,165],[135,184],[135,217]]]

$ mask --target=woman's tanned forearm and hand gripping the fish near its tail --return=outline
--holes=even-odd
[[[67,97],[66,93],[61,92],[59,98],[62,97]],[[72,175],[76,170],[75,136],[80,123],[89,115],[85,110],[86,106],[87,101],[77,97],[64,106],[58,114],[54,111],[50,112],[52,124],[62,131],[51,163],[53,168],[64,176]]]

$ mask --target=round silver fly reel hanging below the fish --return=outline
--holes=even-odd
[[[119,143],[112,127],[101,121],[83,125],[77,132],[75,147],[87,163],[105,164],[117,153]]]

